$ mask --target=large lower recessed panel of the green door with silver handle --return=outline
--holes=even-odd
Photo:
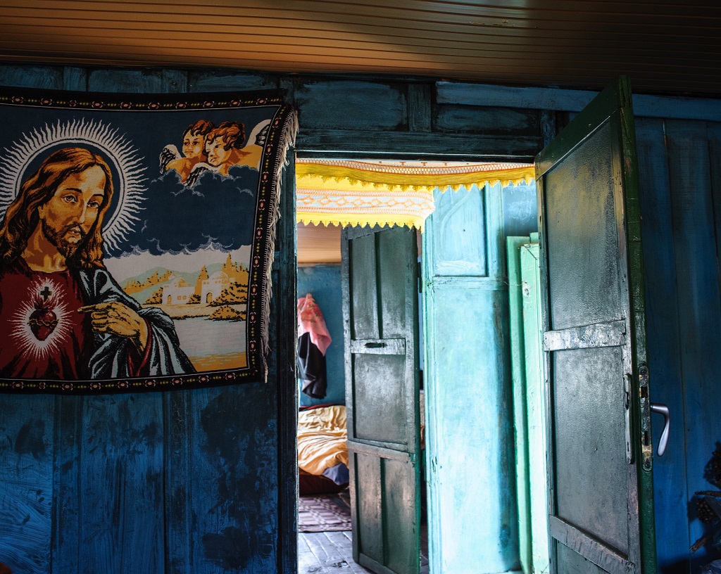
[[[623,395],[619,347],[557,351],[552,360],[556,516],[598,532],[603,542],[626,554],[626,448],[618,440],[625,418],[616,408]],[[593,480],[580,480],[580,472]]]

